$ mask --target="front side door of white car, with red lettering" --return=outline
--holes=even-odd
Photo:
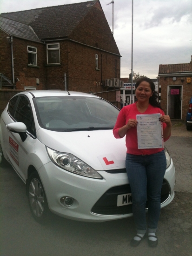
[[[19,96],[19,99],[17,100],[16,106],[14,107],[12,113],[12,119],[13,121],[23,122],[26,125],[27,137],[25,141],[22,141],[18,133],[14,133],[7,129],[6,153],[15,171],[18,173],[20,178],[26,182],[26,158],[28,152],[30,151],[30,144],[27,142],[32,137],[32,139],[35,139],[33,113],[30,101],[26,95]]]

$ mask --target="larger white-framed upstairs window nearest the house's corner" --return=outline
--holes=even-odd
[[[47,64],[60,64],[60,44],[47,44]]]

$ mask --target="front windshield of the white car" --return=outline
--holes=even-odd
[[[51,96],[33,101],[40,126],[53,131],[113,129],[119,114],[101,98]]]

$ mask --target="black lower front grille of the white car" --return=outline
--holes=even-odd
[[[117,206],[117,196],[131,193],[130,185],[122,185],[108,189],[104,195],[93,206],[91,212],[99,215],[123,215],[132,213],[132,204]],[[163,180],[161,189],[161,203],[165,202],[171,193],[170,186],[166,180]],[[148,202],[146,202],[148,208]]]

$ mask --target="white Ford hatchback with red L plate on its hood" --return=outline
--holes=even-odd
[[[79,92],[26,91],[9,101],[0,118],[0,162],[26,183],[36,221],[46,221],[49,210],[88,222],[132,216],[125,138],[113,136],[118,114],[108,101]],[[175,168],[165,152],[161,207],[174,197]]]

